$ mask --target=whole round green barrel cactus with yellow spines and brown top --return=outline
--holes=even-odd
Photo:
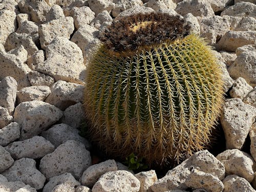
[[[211,141],[223,102],[221,70],[179,16],[115,21],[87,69],[89,136],[107,154],[177,164]]]

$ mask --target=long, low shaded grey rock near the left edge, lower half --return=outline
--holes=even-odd
[[[52,153],[55,147],[44,137],[34,136],[24,141],[10,143],[5,149],[11,154],[13,159],[21,159],[24,157],[37,159]]]

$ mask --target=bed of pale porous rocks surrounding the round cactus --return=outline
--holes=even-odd
[[[255,191],[255,4],[0,1],[0,191]],[[216,48],[227,95],[224,151],[197,152],[161,179],[155,170],[134,174],[115,160],[93,164],[92,145],[78,134],[84,72],[98,35],[115,19],[154,11],[182,15]]]

